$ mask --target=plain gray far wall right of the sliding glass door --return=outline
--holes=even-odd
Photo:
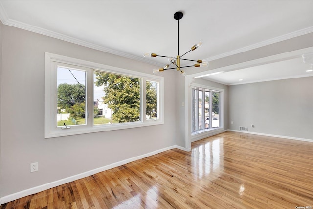
[[[313,139],[313,77],[229,86],[229,120],[232,130],[244,126],[256,133]]]

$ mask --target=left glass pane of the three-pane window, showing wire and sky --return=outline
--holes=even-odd
[[[57,126],[86,124],[86,72],[57,68]]]

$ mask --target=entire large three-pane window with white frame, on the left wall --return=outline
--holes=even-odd
[[[163,77],[45,52],[45,138],[164,124],[163,100]]]

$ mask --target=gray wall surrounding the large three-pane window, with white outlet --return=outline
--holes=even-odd
[[[145,73],[155,68],[3,25],[2,197],[175,145],[176,72],[164,76],[164,125],[44,139],[45,52]],[[39,162],[38,172],[30,173],[32,162]]]

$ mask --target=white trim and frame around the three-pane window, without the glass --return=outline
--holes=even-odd
[[[75,125],[70,126],[70,129],[62,129],[61,127],[56,128],[56,71],[55,63],[64,63],[65,65],[75,65],[79,68],[91,68],[93,70],[105,71],[108,73],[120,74],[125,76],[133,76],[141,78],[141,121],[130,122],[130,123],[116,123],[110,125],[93,125],[93,96],[92,99],[87,99],[86,112],[91,112],[89,118],[87,118],[87,125]],[[146,81],[158,82],[158,119],[146,119],[145,115],[145,92]],[[90,89],[88,86],[93,83],[93,76],[88,75],[87,72],[87,95],[90,93],[93,95],[93,88]],[[92,85],[93,86],[93,85]],[[92,101],[91,101],[92,100]],[[54,108],[55,107],[55,108]],[[92,108],[92,109],[91,109]],[[90,119],[91,118],[91,119]],[[164,78],[160,76],[145,74],[137,71],[126,70],[122,68],[112,67],[104,64],[94,63],[90,61],[80,60],[67,56],[45,52],[45,138],[60,137],[67,135],[76,135],[100,131],[112,131],[120,129],[130,129],[144,126],[160,125],[164,124]]]

